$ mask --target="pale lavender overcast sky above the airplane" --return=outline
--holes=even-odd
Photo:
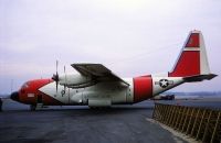
[[[191,30],[204,35],[221,75],[220,0],[0,0],[0,94],[51,78],[72,63],[101,63],[120,77],[169,72]],[[13,80],[13,81],[12,81]],[[171,91],[218,91],[221,77]]]

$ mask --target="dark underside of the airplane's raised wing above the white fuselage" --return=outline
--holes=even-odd
[[[113,74],[102,64],[72,64],[71,66],[83,76],[95,78],[98,81],[122,81],[129,86],[128,82]]]

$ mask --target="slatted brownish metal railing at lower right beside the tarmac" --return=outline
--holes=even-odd
[[[155,103],[152,119],[202,143],[221,143],[221,110]]]

